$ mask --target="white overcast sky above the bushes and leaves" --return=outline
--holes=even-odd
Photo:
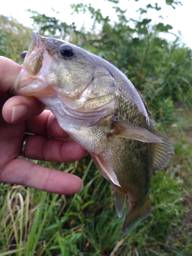
[[[120,7],[121,9],[127,9],[127,16],[137,19],[138,12],[136,12],[136,10],[140,7],[144,8],[146,4],[151,3],[152,5],[155,5],[155,3],[158,2],[159,6],[162,7],[161,11],[157,12],[156,10],[150,10],[147,17],[152,18],[154,22],[163,22],[165,25],[172,25],[174,28],[172,32],[178,34],[178,31],[180,31],[182,41],[185,42],[188,47],[192,48],[192,0],[179,1],[182,2],[183,6],[176,6],[175,10],[170,6],[167,6],[165,0],[140,0],[138,2],[135,2],[134,0],[121,0]],[[94,8],[100,8],[102,10],[103,16],[109,15],[112,20],[116,16],[115,10],[113,9],[115,4],[105,2],[104,0],[47,0],[46,2],[42,0],[0,0],[0,14],[4,16],[12,16],[25,26],[32,26],[32,19],[30,19],[29,12],[26,11],[27,9],[31,9],[41,14],[44,13],[47,16],[55,16],[67,24],[75,22],[75,24],[80,27],[84,23],[86,27],[89,27],[91,24],[90,15],[71,15],[72,10],[70,4],[73,3],[91,3]],[[51,8],[60,13],[56,14]],[[160,15],[164,17],[163,21],[158,18]],[[173,36],[167,36],[167,38],[174,39]]]

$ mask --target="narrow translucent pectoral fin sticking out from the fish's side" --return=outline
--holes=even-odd
[[[111,135],[126,139],[139,140],[146,143],[163,142],[157,135],[146,129],[123,121],[113,121],[114,132]]]

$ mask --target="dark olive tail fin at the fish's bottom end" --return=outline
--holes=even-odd
[[[126,233],[136,221],[144,220],[145,218],[150,216],[150,212],[151,206],[150,198],[148,196],[142,206],[133,205],[130,202],[130,209],[122,228],[123,233]]]

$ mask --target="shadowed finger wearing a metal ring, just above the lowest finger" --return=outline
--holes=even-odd
[[[50,162],[74,162],[86,156],[88,152],[74,140],[58,140],[38,135],[29,135],[25,157]]]

